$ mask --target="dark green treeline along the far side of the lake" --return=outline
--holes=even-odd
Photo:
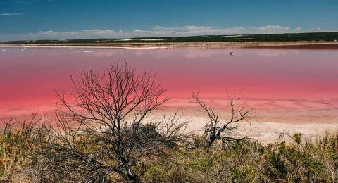
[[[204,35],[189,37],[138,37],[131,39],[69,39],[10,41],[0,44],[104,44],[104,43],[162,43],[162,42],[297,42],[297,41],[337,41],[338,32],[313,32],[296,34],[237,34]]]

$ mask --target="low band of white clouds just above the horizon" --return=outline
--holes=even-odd
[[[262,27],[211,27],[185,25],[180,27],[165,27],[156,25],[149,30],[110,30],[91,29],[81,31],[56,32],[44,30],[29,34],[0,34],[0,40],[23,40],[23,39],[95,39],[95,38],[126,38],[126,37],[180,37],[192,35],[230,35],[230,34],[272,34],[272,33],[293,33],[293,32],[321,32],[319,27],[303,29],[302,27],[284,27],[281,25],[266,25]],[[337,30],[334,30],[337,31]]]

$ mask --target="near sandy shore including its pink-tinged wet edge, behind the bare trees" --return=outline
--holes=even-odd
[[[295,102],[299,106],[295,105]],[[163,115],[168,115],[170,111],[180,110],[182,119],[189,120],[187,132],[194,132],[202,134],[204,132],[204,125],[208,122],[208,118],[204,111],[197,106],[192,106],[192,103],[183,103],[177,106],[177,103],[169,103],[172,105],[163,107],[163,110],[154,111],[151,113],[147,121],[154,120],[154,118],[163,118]],[[269,104],[270,103],[270,104]],[[249,101],[250,107],[253,108],[251,118],[248,121],[239,125],[237,133],[233,134],[240,137],[250,137],[258,140],[263,144],[273,143],[275,141],[292,141],[290,137],[283,133],[294,134],[301,133],[303,137],[315,140],[322,136],[326,131],[331,132],[338,130],[338,103],[332,102],[330,104],[321,104],[314,102],[297,102],[297,101],[279,101],[267,102],[252,102]],[[278,105],[277,105],[278,104]],[[261,107],[264,106],[264,108]],[[276,106],[277,107],[274,107]],[[284,107],[283,107],[284,106]],[[285,107],[289,106],[289,107]],[[292,106],[292,107],[291,107]],[[230,119],[230,108],[228,106],[214,106],[215,113],[220,116],[220,122],[227,122]],[[42,115],[52,116],[52,106],[46,106],[45,111],[39,111]],[[42,110],[42,108],[39,108]],[[37,111],[37,108],[25,109],[23,111],[2,111],[0,110],[0,123],[8,120],[13,116],[27,118],[32,113]],[[4,115],[7,114],[7,115]]]

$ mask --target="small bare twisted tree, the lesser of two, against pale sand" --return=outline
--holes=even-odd
[[[230,96],[231,117],[227,122],[221,122],[219,116],[213,111],[211,106],[207,106],[204,101],[199,98],[199,93],[193,92],[192,99],[199,104],[208,115],[208,122],[205,126],[205,133],[208,136],[208,148],[210,148],[216,140],[221,140],[223,143],[239,142],[246,137],[233,137],[232,132],[237,130],[240,122],[244,122],[249,118],[249,113],[252,109],[246,109],[244,105],[237,107],[235,101],[239,100],[239,96]]]

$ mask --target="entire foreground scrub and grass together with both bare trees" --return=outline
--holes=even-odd
[[[58,93],[54,119],[37,113],[0,127],[0,181],[8,182],[337,182],[338,133],[317,141],[260,144],[234,132],[251,109],[229,96],[220,119],[198,92],[208,121],[203,135],[186,131],[179,112],[146,121],[168,101],[155,76],[127,63],[72,78]],[[66,100],[72,96],[72,100]],[[70,102],[72,101],[72,102]]]

